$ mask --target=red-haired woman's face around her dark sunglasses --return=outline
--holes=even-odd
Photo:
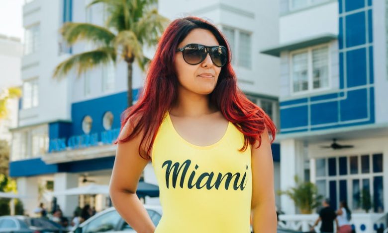
[[[183,48],[188,44],[201,44],[204,46],[218,46],[215,36],[205,29],[193,29],[186,38],[178,45]],[[221,67],[213,64],[209,54],[199,64],[191,65],[183,59],[182,52],[177,52],[174,60],[177,72],[179,88],[200,95],[210,94],[217,84]]]

